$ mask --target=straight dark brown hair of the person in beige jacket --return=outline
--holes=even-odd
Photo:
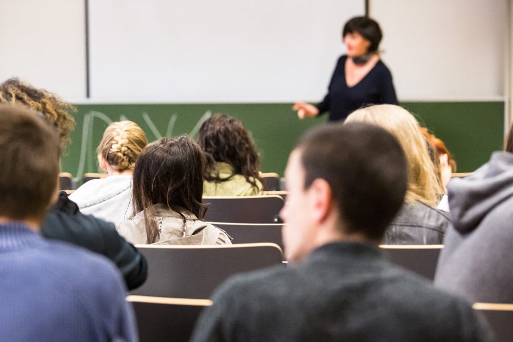
[[[203,152],[188,135],[160,138],[147,145],[133,170],[133,207],[143,211],[148,244],[159,239],[153,205],[164,204],[182,214],[184,209],[199,219],[205,215]]]

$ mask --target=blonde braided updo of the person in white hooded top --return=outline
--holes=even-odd
[[[135,160],[148,144],[144,131],[132,121],[110,124],[96,152],[116,171],[133,170]]]

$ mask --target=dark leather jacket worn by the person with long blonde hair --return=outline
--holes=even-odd
[[[385,231],[385,245],[443,245],[449,213],[415,202],[405,203]]]

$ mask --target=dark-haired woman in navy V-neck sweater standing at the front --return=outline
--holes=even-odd
[[[300,119],[327,111],[329,121],[344,120],[352,111],[368,104],[398,104],[392,75],[380,59],[380,26],[368,17],[354,17],[342,31],[347,55],[339,58],[328,93],[316,106],[295,103]]]

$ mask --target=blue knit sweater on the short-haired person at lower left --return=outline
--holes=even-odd
[[[136,340],[119,271],[81,248],[0,225],[0,339]]]

